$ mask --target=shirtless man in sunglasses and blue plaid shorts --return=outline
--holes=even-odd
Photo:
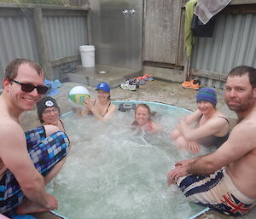
[[[6,67],[0,95],[0,213],[54,210],[58,201],[47,184],[67,158],[67,135],[55,125],[22,130],[21,112],[32,110],[47,92],[44,72],[34,61],[15,59]],[[49,152],[59,151],[57,154]]]

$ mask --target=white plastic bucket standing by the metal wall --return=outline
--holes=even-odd
[[[95,48],[92,45],[79,46],[83,67],[95,66]]]

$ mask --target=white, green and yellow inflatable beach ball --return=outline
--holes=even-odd
[[[68,101],[74,108],[83,108],[84,98],[86,96],[90,97],[88,89],[84,88],[83,86],[75,86],[68,92]]]

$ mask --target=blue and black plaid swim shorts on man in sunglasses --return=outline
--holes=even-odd
[[[55,164],[65,158],[69,141],[67,135],[57,131],[46,137],[44,126],[25,132],[27,151],[36,169],[47,176]],[[7,170],[0,181],[0,213],[15,209],[25,199],[15,176]]]

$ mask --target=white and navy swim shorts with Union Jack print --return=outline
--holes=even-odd
[[[256,199],[241,193],[224,168],[210,175],[180,177],[177,185],[189,201],[225,215],[242,216],[256,205]]]

